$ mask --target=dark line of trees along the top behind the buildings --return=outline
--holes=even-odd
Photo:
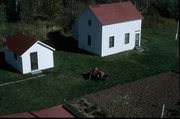
[[[179,0],[0,0],[0,22],[44,20],[70,27],[89,5],[123,1],[131,1],[145,16],[179,16]]]

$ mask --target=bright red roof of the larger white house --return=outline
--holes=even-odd
[[[102,25],[143,19],[131,2],[91,5],[89,8]]]

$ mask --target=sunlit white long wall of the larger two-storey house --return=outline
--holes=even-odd
[[[135,34],[140,33],[141,38],[141,22],[142,20],[133,20],[104,25],[102,27],[101,56],[107,56],[127,50],[132,50],[135,47]],[[130,40],[128,44],[124,44],[125,33],[130,33]],[[114,47],[112,48],[109,48],[110,36],[114,36]]]

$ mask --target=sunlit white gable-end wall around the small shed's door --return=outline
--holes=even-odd
[[[31,72],[30,53],[32,52],[37,52],[38,70],[54,67],[53,50],[37,42],[22,55],[23,74]]]

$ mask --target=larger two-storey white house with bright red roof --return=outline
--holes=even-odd
[[[131,2],[91,5],[75,20],[73,38],[99,56],[132,50],[141,45],[142,19]]]

